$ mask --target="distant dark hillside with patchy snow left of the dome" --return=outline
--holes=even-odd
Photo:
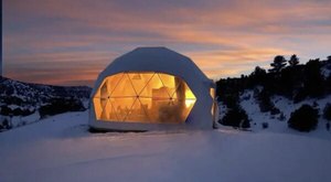
[[[87,86],[51,86],[1,77],[0,131],[36,121],[49,115],[83,110],[87,107],[90,89]],[[57,109],[53,109],[54,107]]]

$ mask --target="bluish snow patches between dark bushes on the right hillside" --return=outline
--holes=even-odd
[[[293,103],[290,99],[287,99],[282,96],[273,96],[271,97],[273,104],[280,110],[280,114],[273,115],[271,113],[261,113],[257,100],[254,98],[253,90],[246,90],[241,95],[241,106],[243,109],[246,110],[249,119],[250,119],[250,130],[260,131],[260,130],[268,130],[273,132],[285,132],[291,133],[296,132],[293,129],[288,128],[288,119],[290,118],[291,113],[298,109],[300,106],[308,104],[308,105],[317,105],[316,107],[321,108],[319,109],[319,122],[316,130],[311,131],[312,135],[319,136],[331,136],[331,131],[327,129],[325,120],[323,116],[323,108],[328,103],[331,101],[331,96],[319,98],[319,99],[306,99],[300,103]],[[224,117],[227,108],[221,105],[221,117]],[[282,116],[281,116],[282,115]],[[280,118],[280,116],[282,118]],[[267,124],[267,128],[264,128],[263,125]],[[302,133],[302,135],[311,135],[311,133]]]

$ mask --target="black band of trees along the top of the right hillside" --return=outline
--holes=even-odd
[[[307,97],[323,97],[331,93],[331,76],[329,74],[324,77],[321,72],[321,67],[329,67],[331,71],[331,56],[325,61],[316,58],[307,64],[299,64],[296,55],[292,55],[289,61],[278,55],[270,65],[271,68],[268,71],[256,66],[249,75],[216,82],[218,100],[232,107],[239,93],[245,89],[255,89],[257,86],[261,87],[263,95],[280,95],[295,103]]]

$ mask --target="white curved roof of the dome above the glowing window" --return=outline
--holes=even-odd
[[[184,81],[190,77],[202,82],[210,82],[194,62],[167,47],[137,47],[117,57],[99,75],[96,84],[106,76],[120,72],[161,72],[179,76]]]

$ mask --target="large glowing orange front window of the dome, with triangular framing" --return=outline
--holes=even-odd
[[[126,72],[104,79],[93,98],[97,120],[184,122],[196,98],[180,77],[154,72]]]

